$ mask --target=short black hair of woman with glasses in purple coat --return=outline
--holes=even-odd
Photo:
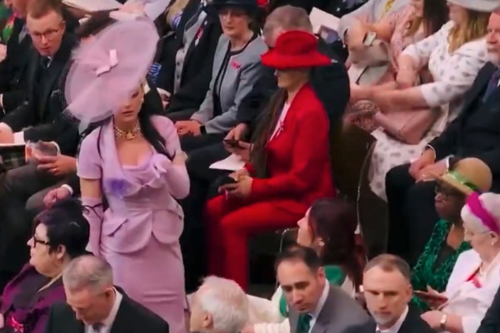
[[[40,223],[47,228],[49,252],[63,245],[71,259],[86,253],[90,227],[78,199],[71,197],[56,201],[50,208],[36,215],[33,233]]]

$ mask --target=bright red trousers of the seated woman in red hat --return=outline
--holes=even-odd
[[[245,204],[218,195],[207,202],[208,273],[248,284],[248,237],[293,227],[308,207],[289,199]],[[266,269],[272,269],[267,267]]]

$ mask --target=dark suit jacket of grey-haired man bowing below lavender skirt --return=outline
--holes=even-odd
[[[109,333],[168,333],[168,323],[124,294]],[[76,319],[67,304],[56,304],[50,309],[45,333],[84,333],[85,325]]]

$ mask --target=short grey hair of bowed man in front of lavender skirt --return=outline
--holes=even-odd
[[[62,282],[68,290],[90,289],[99,291],[113,285],[113,272],[109,263],[93,255],[74,258],[64,268]]]

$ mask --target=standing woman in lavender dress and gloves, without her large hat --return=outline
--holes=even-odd
[[[140,84],[85,137],[77,173],[83,204],[92,208],[89,249],[111,264],[128,296],[165,319],[171,333],[183,333],[183,212],[175,199],[187,195],[189,178],[175,128],[161,112],[161,101],[144,96]]]

